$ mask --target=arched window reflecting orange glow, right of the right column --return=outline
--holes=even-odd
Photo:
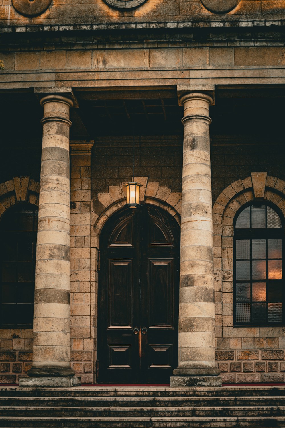
[[[234,222],[234,325],[284,324],[284,219],[279,208],[251,203]]]

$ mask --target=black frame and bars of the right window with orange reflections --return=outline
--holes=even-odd
[[[266,214],[266,224],[265,224],[265,228],[252,228],[252,224],[251,224],[251,209],[250,209],[250,227],[246,228],[246,229],[236,229],[236,222],[237,222],[237,218],[239,217],[240,213],[242,211],[244,211],[247,207],[252,207],[252,206],[261,206],[261,205],[265,205],[266,207],[270,207],[272,208],[274,211],[276,211],[276,213],[279,216],[279,219],[281,221],[281,228],[267,228],[267,214]],[[267,208],[266,208],[267,211]],[[284,278],[284,274],[285,274],[285,218],[284,215],[282,213],[282,211],[280,210],[280,208],[278,206],[276,206],[275,204],[273,204],[273,202],[267,201],[267,200],[260,200],[260,201],[250,201],[247,202],[246,204],[244,204],[242,207],[240,207],[240,209],[237,211],[235,217],[234,217],[234,221],[233,221],[233,227],[234,227],[234,236],[233,236],[233,326],[234,327],[282,327],[285,326],[285,278]],[[268,239],[281,239],[282,240],[282,279],[276,279],[276,281],[280,281],[282,282],[282,321],[278,322],[274,322],[274,323],[266,323],[266,324],[260,324],[260,323],[253,323],[252,322],[252,310],[250,311],[250,322],[246,323],[246,322],[236,322],[236,306],[237,306],[237,283],[242,282],[241,280],[237,280],[237,275],[236,275],[236,262],[237,262],[237,258],[236,258],[236,241],[238,239],[244,239],[244,240],[252,240],[252,239],[264,239],[264,240],[268,240]],[[267,249],[267,245],[266,244],[266,249]],[[268,261],[268,253],[266,253],[266,258],[264,259],[266,260],[266,266],[267,266],[267,261]],[[249,257],[249,261],[250,261],[250,300],[249,303],[251,305],[251,309],[252,309],[252,303],[256,303],[255,301],[252,300],[252,283],[253,282],[264,282],[261,279],[256,279],[253,280],[252,279],[252,250],[250,247],[250,257]],[[267,269],[267,268],[266,268]],[[248,282],[248,281],[244,281],[244,282]],[[266,282],[266,316],[267,316],[267,321],[268,321],[268,278],[265,280]]]

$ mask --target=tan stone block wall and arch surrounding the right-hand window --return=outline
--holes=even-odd
[[[264,199],[285,214],[285,181],[260,175]],[[225,383],[284,382],[285,328],[233,327],[232,224],[236,211],[254,199],[257,180],[252,173],[231,183],[213,205],[216,360]]]

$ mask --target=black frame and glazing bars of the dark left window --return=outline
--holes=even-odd
[[[17,218],[15,224],[19,226],[19,214],[24,214],[19,212],[19,210],[23,210],[27,209],[27,211],[33,211],[33,224],[32,224],[32,230],[27,230],[27,229],[20,229],[18,227],[15,229],[9,229],[9,216],[14,216],[15,218]],[[7,208],[7,210],[3,213],[1,219],[0,219],[0,311],[3,311],[3,306],[2,305],[11,305],[11,308],[13,306],[12,309],[16,309],[18,305],[26,305],[27,309],[29,309],[30,311],[30,322],[20,322],[21,321],[21,311],[19,311],[19,313],[15,314],[15,323],[11,323],[11,322],[4,322],[4,319],[2,318],[2,314],[0,317],[0,328],[1,329],[11,329],[11,328],[33,328],[33,306],[34,306],[34,290],[35,290],[35,267],[36,267],[36,241],[37,241],[37,226],[38,226],[38,213],[39,213],[39,208],[37,205],[33,205],[29,202],[20,202],[18,204],[12,205],[9,208]],[[3,258],[3,245],[5,244],[5,240],[10,240],[13,242],[17,243],[17,249],[15,251],[15,253],[17,253],[17,256],[15,258],[15,260],[11,259],[4,259]],[[12,284],[12,286],[15,289],[15,294],[17,294],[17,297],[15,299],[15,302],[10,302],[10,303],[3,303],[2,299],[3,299],[3,285],[9,285],[9,282],[3,282],[3,263],[15,263],[15,265],[18,266],[18,262],[22,262],[25,263],[26,260],[25,259],[19,259],[19,243],[21,242],[25,242],[25,240],[28,240],[31,245],[32,245],[32,254],[31,254],[31,259],[27,260],[27,262],[31,262],[31,281],[19,281],[18,279],[16,281],[12,281],[10,282]],[[28,251],[28,250],[27,250]],[[16,267],[16,270],[18,269],[18,267]],[[18,278],[18,274],[16,275]],[[21,293],[17,293],[18,291],[18,284],[27,284],[28,286],[30,285],[30,294],[32,297],[32,301],[21,301],[21,299],[19,298],[19,296],[21,295]],[[24,294],[24,292],[23,292]],[[18,318],[17,318],[18,316]]]

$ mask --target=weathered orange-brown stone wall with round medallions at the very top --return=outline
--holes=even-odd
[[[215,12],[224,12],[232,9],[230,14],[224,15],[228,19],[238,19],[244,15],[266,16],[284,14],[285,6],[282,1],[248,1],[248,0],[223,0],[220,5],[230,4],[229,7],[217,6]],[[7,0],[0,5],[0,22],[8,25],[23,26],[25,24],[53,25],[60,22],[66,24],[96,24],[107,22],[145,22],[145,21],[189,21],[193,18],[215,19],[215,14],[210,12],[209,0],[148,0],[140,6],[137,2],[135,8],[126,9],[124,4],[119,10],[114,9],[106,3],[114,4],[114,1],[103,0],[82,1],[78,0],[36,0],[33,5],[26,6],[27,2],[22,0]],[[42,6],[40,5],[42,3]],[[119,2],[117,2],[119,3]],[[126,2],[128,3],[128,2]],[[237,6],[236,6],[237,5]],[[205,7],[206,6],[206,7]],[[234,7],[236,6],[236,7]],[[207,9],[207,7],[209,9]],[[20,11],[22,13],[17,12]],[[212,9],[213,10],[213,9]],[[34,12],[34,13],[33,13]],[[29,15],[38,15],[32,20]],[[150,19],[151,18],[151,19]]]

